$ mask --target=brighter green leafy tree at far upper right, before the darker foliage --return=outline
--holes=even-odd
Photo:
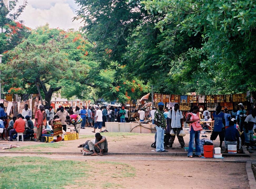
[[[255,91],[254,1],[162,0],[142,3],[151,14],[163,15],[156,22],[156,28],[161,32],[169,30],[174,38],[178,33],[189,38],[198,36],[201,45],[193,44],[184,51],[192,62],[198,61],[196,66],[200,66],[204,73],[195,76],[199,83],[196,91],[212,94]],[[173,41],[164,40],[163,43],[172,46]]]

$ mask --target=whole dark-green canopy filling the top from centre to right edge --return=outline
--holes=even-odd
[[[75,19],[104,67],[154,84],[155,92],[255,90],[255,3],[231,0],[82,1]],[[103,56],[111,49],[108,57]],[[110,61],[108,61],[110,60]],[[116,69],[116,68],[115,68]],[[243,72],[241,71],[243,70]]]

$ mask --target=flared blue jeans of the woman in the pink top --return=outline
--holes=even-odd
[[[200,138],[200,131],[194,131],[193,127],[191,126],[188,156],[193,155],[194,139],[195,139],[195,147],[196,147],[195,155],[201,155],[199,138]]]

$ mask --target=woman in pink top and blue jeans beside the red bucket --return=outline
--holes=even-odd
[[[195,156],[201,156],[201,149],[199,144],[200,130],[203,130],[200,124],[199,119],[199,107],[194,106],[193,112],[187,114],[186,123],[190,123],[190,139],[189,139],[189,151],[188,157],[193,158],[193,148],[194,148],[194,139],[195,139]]]

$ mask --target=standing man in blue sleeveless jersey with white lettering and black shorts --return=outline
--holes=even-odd
[[[225,138],[225,117],[224,113],[221,112],[221,106],[216,107],[216,112],[213,113],[214,128],[211,134],[210,140],[216,140],[219,135],[220,138],[220,148],[222,149],[222,142]]]

